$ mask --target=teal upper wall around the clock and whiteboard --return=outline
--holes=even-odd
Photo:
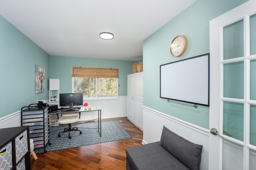
[[[197,0],[144,40],[144,106],[200,127],[209,128],[209,107],[198,106],[195,109],[194,107],[168,103],[165,99],[160,98],[160,65],[209,53],[209,21],[246,1]],[[188,39],[188,47],[184,55],[175,58],[170,55],[169,46],[176,35],[185,35]]]

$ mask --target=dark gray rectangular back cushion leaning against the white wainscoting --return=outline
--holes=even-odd
[[[163,127],[160,145],[191,170],[200,169],[202,145],[194,144],[180,137],[165,126]]]

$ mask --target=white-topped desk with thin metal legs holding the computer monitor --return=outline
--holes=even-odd
[[[102,108],[100,106],[92,106],[92,109],[90,109],[90,110],[88,110],[88,109],[85,110],[84,107],[81,107],[80,109],[72,110],[72,111],[67,111],[68,109],[69,108],[64,108],[62,110],[50,112],[49,114],[56,114],[58,116],[58,114],[79,113],[79,117],[80,117],[80,114],[83,112],[98,111],[98,130],[100,132],[100,137],[101,137],[101,110],[102,110]]]

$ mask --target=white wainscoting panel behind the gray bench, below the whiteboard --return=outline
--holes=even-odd
[[[208,170],[209,130],[143,106],[143,144],[160,141],[163,126],[181,137],[203,145],[200,170]]]

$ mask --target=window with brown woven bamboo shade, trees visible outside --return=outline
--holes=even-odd
[[[72,90],[84,99],[118,98],[118,69],[73,67]]]

